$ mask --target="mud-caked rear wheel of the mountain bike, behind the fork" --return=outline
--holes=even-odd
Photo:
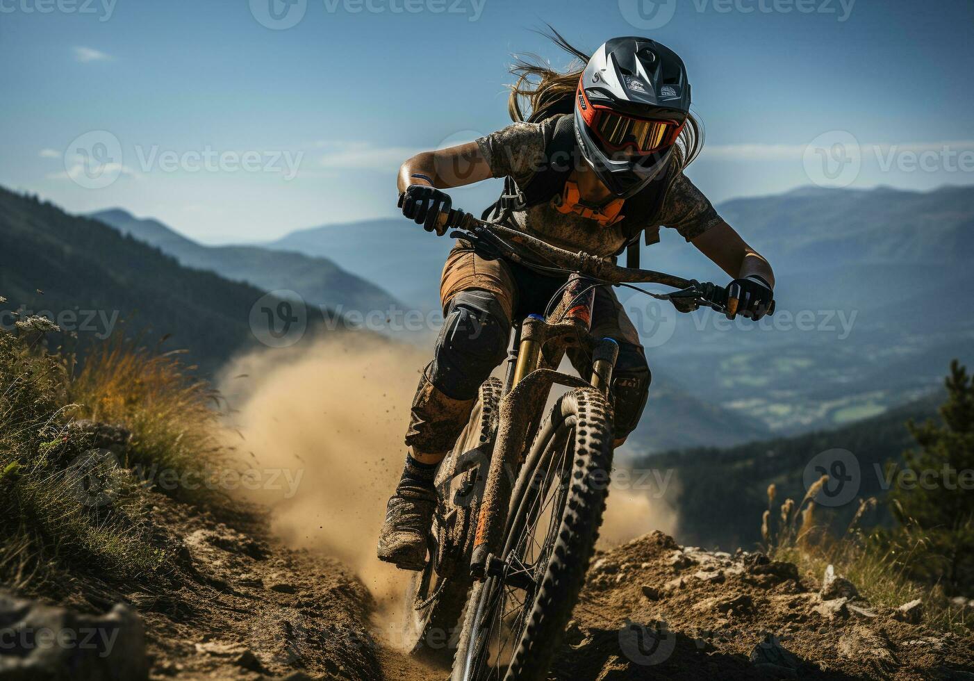
[[[480,470],[466,475],[459,473],[463,473],[464,460],[468,459],[464,454],[478,447],[486,448],[489,453],[489,443],[497,432],[502,393],[503,387],[496,378],[489,378],[480,386],[468,424],[436,474],[437,490],[442,498],[433,518],[430,560],[422,571],[414,574],[406,589],[404,646],[416,657],[445,667],[453,660],[457,626],[470,589],[468,548],[464,543],[472,530],[466,531],[464,525],[475,522],[479,496],[471,485],[476,485],[477,475],[486,476],[489,457],[482,459],[485,465]],[[441,547],[441,544],[450,546]],[[447,555],[450,551],[453,560]],[[453,565],[447,565],[450,562]],[[446,574],[441,576],[441,572]]]

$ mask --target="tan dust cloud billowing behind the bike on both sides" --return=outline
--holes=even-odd
[[[378,338],[319,340],[244,356],[219,382],[234,410],[228,442],[267,483],[248,498],[273,509],[273,530],[288,546],[321,551],[356,571],[380,604],[378,621],[392,643],[409,573],[380,562],[375,543],[428,355]],[[610,491],[603,548],[676,524],[661,500],[633,484],[635,474],[624,477],[628,483]]]

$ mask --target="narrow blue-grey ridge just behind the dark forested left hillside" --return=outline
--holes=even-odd
[[[260,246],[204,246],[158,220],[139,219],[121,208],[100,210],[90,217],[141,242],[157,246],[188,267],[211,270],[227,279],[253,284],[264,290],[293,290],[309,304],[346,312],[356,310],[363,314],[402,307],[390,293],[325,257]]]

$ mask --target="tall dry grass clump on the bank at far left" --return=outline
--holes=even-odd
[[[0,331],[0,583],[56,597],[83,574],[164,574],[169,543],[152,526],[146,481],[131,467],[216,465],[215,396],[176,356],[133,342],[95,349],[71,376],[74,359],[44,347],[49,325]],[[131,442],[117,457],[100,454],[91,432],[77,427],[82,418],[117,424]]]

